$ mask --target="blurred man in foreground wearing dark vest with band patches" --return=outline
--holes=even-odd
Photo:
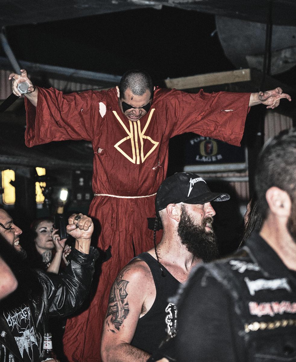
[[[263,147],[255,174],[261,231],[191,273],[177,301],[178,362],[296,361],[295,160],[296,129]]]

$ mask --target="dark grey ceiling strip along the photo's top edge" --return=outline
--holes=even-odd
[[[36,24],[122,10],[162,6],[266,22],[272,3],[273,23],[296,25],[294,0],[2,0],[0,25]]]

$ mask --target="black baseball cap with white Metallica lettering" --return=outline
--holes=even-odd
[[[166,178],[161,183],[155,198],[155,209],[157,213],[170,203],[203,204],[229,199],[228,194],[211,192],[206,181],[195,173],[180,172]]]

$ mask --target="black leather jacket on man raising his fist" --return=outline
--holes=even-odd
[[[40,353],[44,333],[49,332],[48,317],[72,314],[81,306],[89,292],[98,252],[91,248],[89,254],[84,254],[74,249],[71,254],[71,262],[61,274],[46,274],[36,270],[41,293],[36,295],[34,291],[28,290],[28,304]],[[22,361],[22,357],[1,311],[0,362],[14,361]]]

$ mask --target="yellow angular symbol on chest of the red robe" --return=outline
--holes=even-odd
[[[140,159],[142,163],[147,159],[149,155],[155,150],[155,148],[158,146],[159,142],[153,141],[153,139],[149,136],[145,136],[145,132],[147,130],[147,127],[149,126],[149,123],[152,118],[152,114],[155,111],[155,108],[152,108],[148,117],[148,120],[145,124],[145,127],[143,128],[143,131],[141,130],[141,123],[140,119],[138,119],[137,122],[128,121],[130,124],[130,130],[127,129],[126,125],[122,122],[119,115],[116,111],[113,111],[115,117],[118,119],[120,125],[122,125],[123,129],[126,131],[127,136],[121,139],[119,142],[117,142],[114,147],[119,151],[124,157],[126,157],[129,161],[132,163],[140,164]],[[140,139],[140,149],[139,149],[139,142],[138,142],[138,135]],[[120,144],[122,144],[124,141],[131,140],[131,147],[132,147],[132,157],[128,156],[122,149],[119,147]],[[148,139],[154,146],[151,148],[149,152],[144,156],[144,142],[143,139]]]

